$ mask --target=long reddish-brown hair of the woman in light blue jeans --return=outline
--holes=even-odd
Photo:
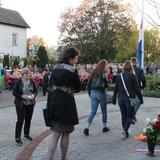
[[[107,60],[101,59],[96,65],[96,68],[91,72],[90,77],[100,76],[104,72],[104,67],[106,64],[108,64]]]

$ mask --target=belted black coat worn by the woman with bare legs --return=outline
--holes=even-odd
[[[70,88],[73,92],[80,91],[80,80],[77,70],[68,64],[68,68],[55,67],[50,76],[47,107],[49,119],[65,125],[78,124],[78,114],[75,99],[72,93],[60,89],[51,91],[52,86]],[[61,66],[61,64],[60,64]]]

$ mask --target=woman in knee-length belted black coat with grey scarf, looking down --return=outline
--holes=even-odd
[[[66,49],[62,60],[55,65],[50,77],[47,107],[53,136],[49,144],[49,160],[54,158],[58,140],[61,138],[62,160],[66,160],[69,134],[78,124],[78,114],[73,96],[80,91],[80,80],[74,66],[79,57],[75,48]]]

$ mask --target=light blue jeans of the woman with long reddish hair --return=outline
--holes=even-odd
[[[97,113],[98,105],[101,106],[102,121],[107,123],[107,97],[106,93],[101,90],[91,90],[91,113],[88,117],[88,124],[92,123],[94,116]]]

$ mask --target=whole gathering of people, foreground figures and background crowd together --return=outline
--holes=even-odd
[[[91,100],[91,111],[83,131],[85,136],[90,134],[91,124],[99,104],[102,112],[102,132],[110,130],[107,126],[106,95],[106,88],[110,84],[115,84],[112,103],[115,105],[118,102],[120,108],[122,139],[126,140],[130,136],[130,125],[137,121],[137,111],[143,104],[142,91],[146,86],[147,68],[145,71],[137,68],[136,57],[120,65],[109,64],[105,59],[101,59],[94,65],[77,65],[79,56],[78,49],[68,48],[62,54],[59,63],[46,65],[43,73],[38,72],[36,65],[15,67],[12,72],[8,67],[3,69],[5,88],[13,90],[15,96],[17,145],[23,144],[21,140],[23,123],[24,137],[32,141],[30,126],[39,87],[42,88],[44,96],[48,93],[46,105],[50,129],[53,131],[49,140],[49,160],[54,159],[59,140],[62,160],[66,160],[70,133],[74,131],[74,125],[79,123],[74,93],[81,89],[88,90]],[[153,67],[151,68],[150,74],[154,74],[156,70],[153,71]]]

